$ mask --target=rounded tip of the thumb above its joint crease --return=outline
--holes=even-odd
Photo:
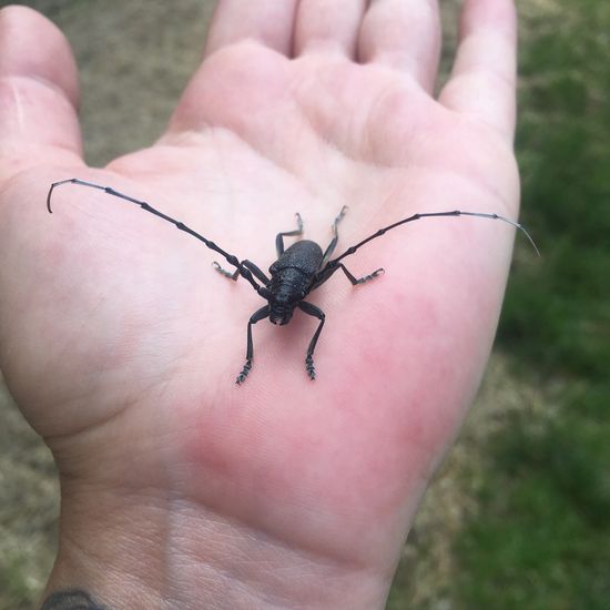
[[[77,109],[77,62],[61,30],[29,7],[0,9],[0,78],[26,77],[59,89]]]

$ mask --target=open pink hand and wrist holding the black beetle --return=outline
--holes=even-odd
[[[151,148],[88,167],[74,60],[0,11],[0,366],[61,480],[44,597],[106,608],[383,608],[425,487],[480,382],[514,231],[431,218],[367,244],[254,327],[252,287],[203,244],[67,177],[146,200],[265,268],[294,228],[340,253],[416,212],[516,218],[516,18],[466,0],[435,85],[433,0],[221,0],[201,67]],[[224,261],[220,261],[225,263]],[[226,264],[225,264],[226,266]],[[68,607],[68,606],[67,606]]]

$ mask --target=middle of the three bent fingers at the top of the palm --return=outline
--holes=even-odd
[[[296,55],[317,51],[356,54],[356,41],[366,0],[302,0],[294,28]]]

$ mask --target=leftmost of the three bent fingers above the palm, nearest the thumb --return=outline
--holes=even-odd
[[[207,33],[204,55],[247,39],[289,55],[296,7],[297,0],[220,0]]]

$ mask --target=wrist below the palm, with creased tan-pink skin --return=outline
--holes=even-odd
[[[388,578],[321,557],[159,490],[63,494],[44,599],[80,590],[108,610],[383,608]]]

